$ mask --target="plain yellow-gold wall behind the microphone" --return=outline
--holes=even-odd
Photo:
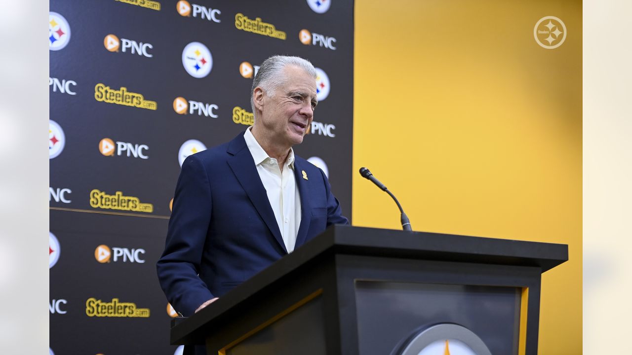
[[[566,24],[544,49],[533,27]],[[581,1],[356,0],[353,169],[416,231],[569,244],[540,354],[581,354]],[[359,174],[353,224],[399,228]]]

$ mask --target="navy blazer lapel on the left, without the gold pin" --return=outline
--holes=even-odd
[[[270,207],[270,201],[265,192],[264,184],[259,178],[257,167],[252,159],[250,150],[248,150],[246,146],[243,133],[240,133],[240,135],[231,141],[228,146],[228,153],[233,155],[232,158],[228,159],[228,165],[230,165],[233,170],[241,187],[246,191],[248,198],[250,198],[255,208],[257,208],[257,212],[270,229],[270,232],[272,232],[272,235],[274,235],[274,239],[276,239],[277,243],[283,248],[283,251],[288,253],[283,238],[281,238],[281,231],[279,231],[279,225],[274,217],[274,212],[272,211],[272,207]]]

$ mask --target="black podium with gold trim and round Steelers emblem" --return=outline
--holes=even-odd
[[[189,318],[207,354],[537,354],[566,244],[331,226]],[[467,352],[470,351],[470,352]]]

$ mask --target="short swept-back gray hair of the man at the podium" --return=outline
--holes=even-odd
[[[301,57],[272,56],[265,59],[264,63],[261,63],[257,75],[255,75],[255,79],[252,81],[252,88],[250,89],[250,106],[252,107],[253,114],[256,115],[255,88],[263,88],[265,94],[269,97],[274,95],[274,91],[285,83],[286,76],[283,71],[286,66],[289,65],[298,66],[298,68],[305,70],[305,73],[313,76],[314,79],[318,76],[312,63]]]

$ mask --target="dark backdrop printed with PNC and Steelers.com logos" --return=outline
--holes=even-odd
[[[177,354],[155,262],[180,166],[252,124],[252,78],[267,57],[317,68],[319,106],[295,151],[351,217],[353,1],[51,0],[49,10],[51,354]]]

